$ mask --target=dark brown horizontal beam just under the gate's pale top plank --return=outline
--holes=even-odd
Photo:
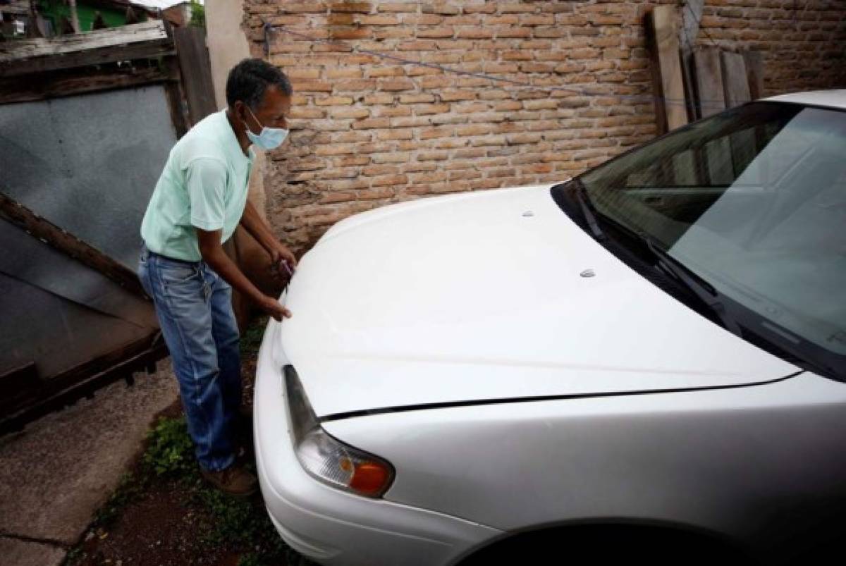
[[[85,69],[81,73],[79,70],[64,69],[52,73],[26,74],[0,79],[0,104],[151,85],[165,80],[170,80],[168,75],[157,67],[93,72]]]

